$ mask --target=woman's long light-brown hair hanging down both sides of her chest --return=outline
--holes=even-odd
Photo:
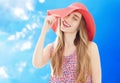
[[[60,28],[60,23],[58,23],[58,28]],[[63,51],[64,51],[64,33],[58,29],[58,37],[56,39],[56,46],[52,53],[51,66],[53,69],[53,75],[62,75],[62,64],[63,64]],[[74,45],[76,46],[77,54],[77,66],[76,72],[78,77],[76,83],[85,83],[86,75],[91,75],[91,64],[89,53],[87,51],[88,46],[88,35],[85,26],[85,20],[82,17],[78,31],[76,33],[76,38],[74,40]]]

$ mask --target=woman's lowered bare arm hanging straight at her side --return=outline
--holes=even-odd
[[[88,46],[92,68],[92,83],[101,83],[100,55],[96,43],[90,42]]]

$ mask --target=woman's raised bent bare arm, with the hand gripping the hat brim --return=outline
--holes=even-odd
[[[33,59],[32,59],[33,66],[36,68],[41,68],[50,59],[51,44],[48,44],[45,49],[43,49],[43,46],[44,46],[46,33],[49,30],[49,28],[54,24],[55,20],[56,18],[53,15],[47,16],[45,19],[44,26],[42,28],[42,32],[38,40],[38,43],[36,45],[36,48],[33,54]]]

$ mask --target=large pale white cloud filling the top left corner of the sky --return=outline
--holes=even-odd
[[[34,5],[34,0],[0,0],[2,12],[7,10],[7,13],[22,20],[29,19],[29,12],[34,10]]]

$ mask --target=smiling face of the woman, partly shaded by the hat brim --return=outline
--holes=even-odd
[[[68,16],[61,18],[61,28],[63,32],[76,32],[82,15],[79,12],[72,12]]]

